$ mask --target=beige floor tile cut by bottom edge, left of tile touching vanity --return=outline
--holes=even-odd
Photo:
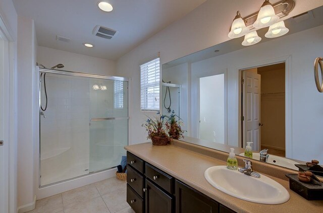
[[[110,213],[101,197],[64,208],[65,213]]]

